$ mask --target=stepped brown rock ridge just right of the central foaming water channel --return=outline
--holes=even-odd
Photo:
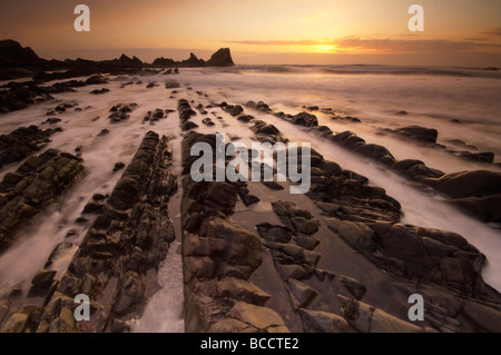
[[[189,132],[183,140],[184,172],[193,164],[190,147],[214,135]],[[240,190],[239,190],[240,188]],[[187,332],[288,332],[282,317],[264,306],[269,296],[248,282],[261,265],[262,243],[232,220],[244,185],[183,179],[183,259]],[[240,195],[242,196],[242,195]]]

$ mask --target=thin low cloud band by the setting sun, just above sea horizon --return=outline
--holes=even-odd
[[[470,52],[482,48],[501,48],[501,45],[482,43],[480,39],[471,40],[444,40],[444,39],[391,39],[391,38],[361,38],[344,37],[328,41],[320,40],[238,40],[227,41],[235,45],[249,46],[335,46],[338,51],[346,50],[374,50],[394,53],[416,52]]]

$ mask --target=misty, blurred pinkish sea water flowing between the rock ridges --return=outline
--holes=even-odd
[[[170,98],[173,89],[165,89],[163,85],[167,78],[174,78],[181,85],[179,89],[174,89],[179,91],[174,95],[175,98]],[[170,144],[174,148],[175,169],[179,171],[183,137],[177,112],[169,114],[155,126],[143,124],[143,118],[147,111],[156,108],[176,110],[177,100],[180,98],[204,106],[222,101],[242,105],[248,100],[263,100],[275,111],[282,110],[287,114],[303,111],[305,110],[303,106],[332,108],[341,116],[354,116],[362,122],[332,120],[328,115],[316,111],[314,114],[318,117],[320,125],[326,125],[333,131],[352,130],[367,142],[384,145],[397,159],[421,159],[430,167],[444,172],[472,169],[501,171],[495,165],[466,161],[436,148],[426,148],[409,140],[381,135],[383,128],[409,125],[435,128],[439,130],[439,142],[451,146],[449,140],[461,139],[468,145],[475,146],[478,151],[493,151],[495,161],[501,161],[499,71],[385,66],[237,66],[181,69],[180,75],[175,77],[151,75],[110,77],[110,79],[108,85],[77,88],[77,92],[55,95],[57,102],[43,102],[0,116],[0,134],[8,134],[21,126],[40,126],[48,118],[47,110],[59,102],[78,102],[82,111],[70,109],[68,112],[53,116],[61,118],[62,121],[58,126],[62,127],[63,131],[53,135],[52,141],[43,149],[56,148],[72,152],[77,146],[81,146],[86,167],[86,174],[77,184],[70,187],[57,204],[24,226],[19,231],[16,245],[0,256],[0,295],[9,293],[19,284],[27,289],[29,280],[43,266],[55,246],[65,240],[68,230],[77,230],[77,235],[67,239],[68,241],[76,245],[81,241],[88,226],[77,225],[75,220],[94,194],[111,191],[121,175],[121,171],[116,174],[111,171],[115,162],[121,161],[126,165],[130,162],[146,131],[153,129],[159,134],[175,136]],[[141,80],[143,83],[120,88],[121,82],[129,80]],[[147,89],[146,85],[149,81],[157,81],[159,86]],[[89,93],[100,87],[107,87],[111,91],[99,96]],[[202,95],[196,91],[202,91]],[[138,107],[130,114],[128,120],[111,125],[107,119],[108,111],[111,106],[119,102],[136,102]],[[90,108],[85,109],[88,106]],[[407,115],[399,115],[403,110]],[[196,130],[237,135],[244,144],[250,142],[253,135],[245,124],[222,114],[218,108],[207,111],[216,126],[204,126],[202,124],[204,117],[197,115],[193,118],[200,126]],[[292,141],[311,142],[312,147],[326,158],[337,161],[345,169],[365,175],[371,184],[385,188],[389,195],[402,204],[403,223],[453,230],[463,235],[485,254],[488,266],[484,268],[483,277],[491,286],[501,290],[500,229],[470,218],[445,204],[442,197],[419,191],[409,181],[385,170],[376,162],[324,141],[301,127],[271,115],[249,109],[246,109],[246,112],[275,125]],[[224,119],[219,120],[216,116],[223,116]],[[94,120],[96,117],[99,119]],[[104,128],[110,130],[109,135],[97,137]],[[0,171],[0,178],[20,164],[4,167]],[[170,215],[175,224],[178,224],[178,211],[171,211]],[[88,217],[91,221],[92,217]],[[170,254],[174,249],[169,252],[167,264],[179,262]],[[75,248],[71,250],[75,252]],[[69,260],[70,256],[67,255],[55,263],[58,272],[62,273]],[[160,272],[159,284],[171,287],[165,275],[168,275],[167,278],[179,280],[181,268],[176,267],[164,274]],[[161,295],[161,292],[160,289],[158,293]],[[151,303],[154,309],[165,308],[165,303],[158,297]],[[173,319],[177,317],[178,310],[166,312]],[[155,312],[148,310],[148,307],[145,310],[146,315],[155,318]],[[146,324],[140,323],[136,329],[150,329]],[[180,329],[180,323],[176,323],[175,327]]]

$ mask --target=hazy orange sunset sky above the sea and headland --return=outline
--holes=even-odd
[[[90,31],[77,32],[77,4]],[[424,9],[412,32],[411,4]],[[239,65],[501,67],[500,0],[0,0],[0,38],[47,59],[208,59]]]

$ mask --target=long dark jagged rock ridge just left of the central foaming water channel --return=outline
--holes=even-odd
[[[151,131],[146,134],[111,195],[95,195],[87,204],[84,213],[96,213],[97,218],[77,248],[68,270],[56,279],[55,272],[41,269],[35,276],[27,298],[32,310],[21,317],[26,306],[21,309],[10,306],[4,329],[39,333],[127,331],[126,321],[139,316],[155,292],[155,273],[175,239],[167,206],[169,196],[177,190],[170,164],[167,138]],[[52,255],[61,253],[59,249]],[[89,322],[76,322],[73,317],[73,298],[78,294],[90,298]]]

